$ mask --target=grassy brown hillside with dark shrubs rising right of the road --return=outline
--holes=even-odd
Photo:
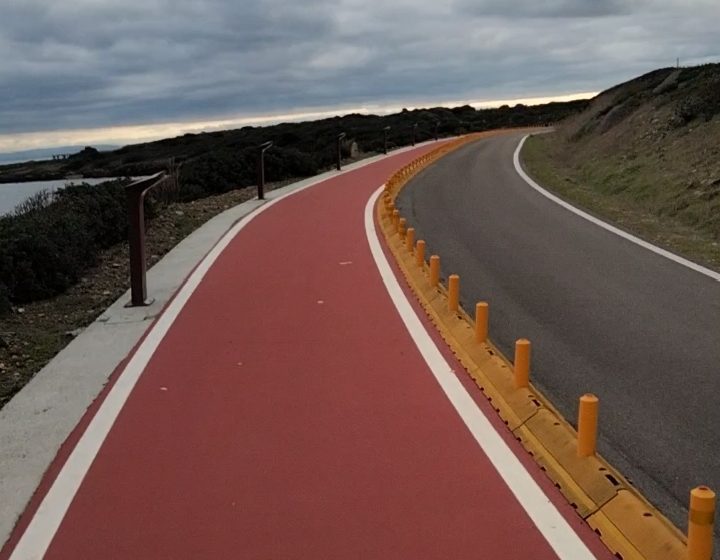
[[[599,94],[523,150],[570,201],[720,268],[720,64],[663,68]]]

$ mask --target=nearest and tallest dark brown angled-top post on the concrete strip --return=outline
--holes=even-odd
[[[145,193],[165,180],[161,171],[125,187],[130,245],[130,303],[127,307],[150,305],[147,299],[147,263],[145,262]]]

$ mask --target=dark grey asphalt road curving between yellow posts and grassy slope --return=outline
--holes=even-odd
[[[418,175],[398,204],[490,302],[508,356],[533,342],[534,383],[574,422],[600,397],[600,450],[681,527],[689,490],[720,490],[720,283],[562,208],[516,173],[522,135],[482,140]]]

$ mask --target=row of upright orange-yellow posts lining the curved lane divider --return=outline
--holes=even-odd
[[[405,249],[415,257],[415,265],[425,269],[426,243],[419,239],[415,241],[415,229],[407,227],[405,218],[400,217],[400,211],[395,208],[392,191],[398,184],[405,184],[416,173],[422,170],[427,163],[444,155],[456,147],[450,143],[421,156],[417,160],[403,167],[386,185],[383,194],[383,203],[395,231],[403,240]],[[440,257],[431,255],[428,260],[430,285],[438,287],[440,284]],[[448,310],[458,313],[460,309],[460,277],[451,274],[447,284]],[[488,336],[489,305],[481,301],[475,305],[475,339],[484,343]],[[527,388],[530,384],[530,349],[531,342],[527,339],[518,339],[515,343],[515,359],[513,361],[514,383],[517,389]],[[577,419],[577,454],[579,457],[591,457],[597,451],[598,410],[600,401],[597,396],[588,393],[580,397]],[[715,492],[707,486],[698,486],[690,492],[690,505],[687,531],[687,560],[711,560],[713,550],[713,529],[715,521]]]

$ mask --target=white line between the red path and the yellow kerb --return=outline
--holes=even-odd
[[[382,187],[365,207],[365,233],[385,288],[420,354],[485,455],[558,557],[563,560],[595,558],[478,408],[410,305],[385,257],[375,229],[374,208],[381,191]]]

